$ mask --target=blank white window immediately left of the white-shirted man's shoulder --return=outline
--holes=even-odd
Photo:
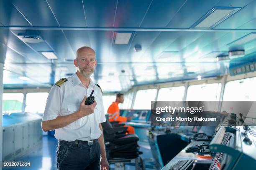
[[[28,92],[25,112],[44,113],[48,92]]]

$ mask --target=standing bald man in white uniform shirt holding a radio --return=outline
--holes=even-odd
[[[90,79],[97,61],[90,47],[77,50],[77,72],[55,83],[42,120],[44,131],[55,130],[59,140],[58,170],[108,170],[101,122],[105,122],[100,86]],[[85,105],[94,90],[95,101]]]

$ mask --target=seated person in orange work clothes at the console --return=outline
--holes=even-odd
[[[117,93],[115,102],[113,102],[108,107],[108,115],[109,115],[108,117],[109,117],[110,122],[114,122],[114,121],[127,122],[127,120],[132,119],[132,117],[120,116],[120,110],[119,110],[118,104],[123,103],[123,101],[124,101],[123,94],[122,93]],[[127,126],[127,125],[125,125],[125,126]],[[135,133],[135,130],[132,126],[127,126],[127,127],[128,127],[128,129],[127,129],[128,134],[134,134]]]

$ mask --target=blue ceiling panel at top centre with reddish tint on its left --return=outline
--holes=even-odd
[[[119,0],[115,16],[115,27],[140,27],[152,0]]]

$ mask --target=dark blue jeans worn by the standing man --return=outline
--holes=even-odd
[[[57,148],[58,170],[100,170],[100,145],[75,144],[59,140]]]

